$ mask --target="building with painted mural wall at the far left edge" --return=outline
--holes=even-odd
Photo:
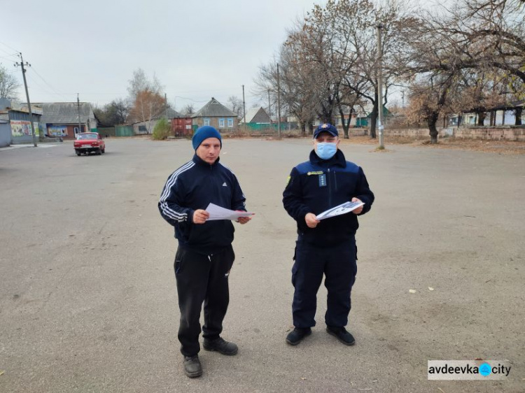
[[[31,114],[35,128],[35,136],[39,138],[38,123],[41,121],[42,109],[31,106]],[[1,146],[33,142],[31,117],[27,105],[15,103],[9,99],[0,99]]]

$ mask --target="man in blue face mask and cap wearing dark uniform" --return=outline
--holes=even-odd
[[[283,192],[284,208],[297,222],[298,234],[292,269],[295,329],[286,337],[290,345],[300,343],[316,324],[316,296],[323,275],[328,290],[326,329],[346,345],[355,343],[345,327],[357,273],[357,216],[370,210],[374,194],[363,169],[346,161],[338,146],[334,126],[321,124],[317,127],[309,161],[292,169]],[[316,219],[319,213],[347,201],[365,204],[351,213],[321,221]]]

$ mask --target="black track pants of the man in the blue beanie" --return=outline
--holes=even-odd
[[[194,356],[200,351],[200,312],[204,302],[204,338],[218,338],[228,310],[230,294],[228,276],[235,254],[228,246],[212,255],[178,248],[175,255],[175,278],[179,294],[181,352]]]

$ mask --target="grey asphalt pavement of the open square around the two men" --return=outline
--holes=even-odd
[[[346,142],[346,141],[345,141]],[[387,148],[388,141],[386,141]],[[344,143],[376,201],[360,217],[346,347],[291,327],[295,223],[282,207],[308,139],[224,139],[255,217],[236,224],[224,338],[182,371],[173,229],[157,202],[190,141],[0,149],[0,392],[524,392],[525,155]],[[410,290],[412,290],[411,293]],[[429,381],[428,360],[500,359],[499,381]],[[3,372],[2,372],[3,371]]]

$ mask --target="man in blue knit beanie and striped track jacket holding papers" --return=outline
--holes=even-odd
[[[229,210],[244,210],[246,198],[235,175],[219,162],[221,134],[210,126],[193,136],[195,155],[169,176],[158,203],[160,214],[175,227],[179,248],[175,278],[181,322],[179,341],[184,372],[190,378],[202,374],[198,357],[200,313],[204,303],[204,349],[223,355],[237,354],[237,345],[223,340],[223,320],[230,300],[228,276],[235,254],[234,227],[228,220],[207,221],[204,210],[214,203]],[[246,224],[249,217],[240,217]]]

